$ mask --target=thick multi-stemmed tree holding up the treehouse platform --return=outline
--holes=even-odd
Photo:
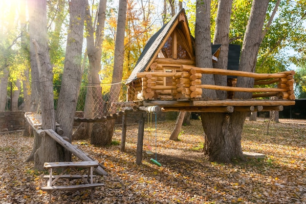
[[[219,5],[221,6],[219,0]],[[196,65],[201,68],[211,68],[211,33],[210,33],[210,0],[197,0],[196,10]],[[230,6],[231,2],[225,2],[223,5]],[[262,40],[261,33],[265,14],[268,7],[268,0],[253,0],[252,9],[248,24],[246,27],[239,70],[254,72],[257,61],[257,54]],[[220,9],[220,7],[218,7]],[[222,9],[218,11],[219,18],[229,18],[229,9]],[[223,14],[222,14],[223,13]],[[217,15],[217,16],[218,16]],[[216,27],[225,26],[224,31],[227,32],[228,20],[221,23],[217,17]],[[220,25],[218,25],[220,23]],[[222,30],[222,29],[221,29]],[[222,36],[222,31],[220,36]],[[216,33],[216,40],[219,34]],[[222,38],[227,38],[224,43],[228,42],[228,37],[225,35]],[[225,54],[226,55],[226,54]],[[224,79],[215,80],[214,75],[203,74],[201,78],[202,84],[220,84],[224,83]],[[223,82],[222,82],[223,81]],[[246,77],[238,77],[238,87],[253,87],[254,81]],[[218,92],[214,90],[203,90],[203,98],[217,99]],[[237,99],[251,98],[249,93],[237,92],[235,94]],[[201,113],[201,120],[205,132],[204,152],[209,156],[210,160],[220,162],[231,162],[231,159],[237,158],[243,160],[241,149],[241,133],[242,127],[247,113]]]

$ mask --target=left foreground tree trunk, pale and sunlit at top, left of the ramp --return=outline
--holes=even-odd
[[[50,64],[48,36],[47,36],[47,13],[46,0],[31,0],[30,7],[37,25],[33,38],[36,51],[38,70],[40,72],[40,86],[42,88],[42,129],[55,129],[55,113],[53,101],[53,75]],[[44,169],[44,162],[59,161],[57,143],[50,136],[42,138],[41,146],[34,154],[34,166],[38,170]]]

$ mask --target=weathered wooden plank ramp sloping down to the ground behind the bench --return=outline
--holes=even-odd
[[[67,142],[65,139],[63,139],[63,137],[58,135],[54,130],[48,129],[44,130],[44,132],[82,161],[94,161],[94,159],[88,157],[83,151],[74,147],[70,142]],[[108,173],[103,169],[102,165],[99,165],[97,168],[95,168],[95,172],[99,175],[108,175]]]

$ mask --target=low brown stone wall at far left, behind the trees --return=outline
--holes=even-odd
[[[0,132],[23,130],[24,111],[0,111]]]

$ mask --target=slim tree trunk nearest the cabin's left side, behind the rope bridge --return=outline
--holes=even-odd
[[[124,36],[125,36],[125,25],[127,18],[127,0],[119,0],[119,10],[118,10],[118,21],[117,21],[117,31],[116,31],[116,42],[115,42],[115,56],[114,56],[114,69],[112,74],[112,85],[109,91],[109,104],[118,101],[122,72],[123,72],[123,61],[124,61]],[[109,108],[109,113],[113,114],[116,110],[112,107]],[[100,127],[98,127],[98,125]],[[109,145],[111,143],[111,138],[113,135],[113,130],[115,126],[115,121],[107,121],[104,123],[97,123],[94,125],[94,131],[91,134],[91,143],[95,145]],[[101,133],[103,138],[101,137]],[[99,143],[97,143],[99,141]]]

